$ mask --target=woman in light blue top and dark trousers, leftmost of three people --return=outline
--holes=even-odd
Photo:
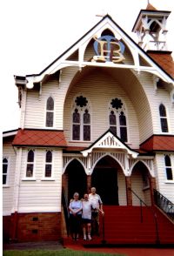
[[[70,229],[72,239],[78,239],[78,233],[80,231],[81,219],[82,219],[82,202],[78,199],[79,194],[74,193],[73,199],[70,200],[69,211],[70,211]]]

